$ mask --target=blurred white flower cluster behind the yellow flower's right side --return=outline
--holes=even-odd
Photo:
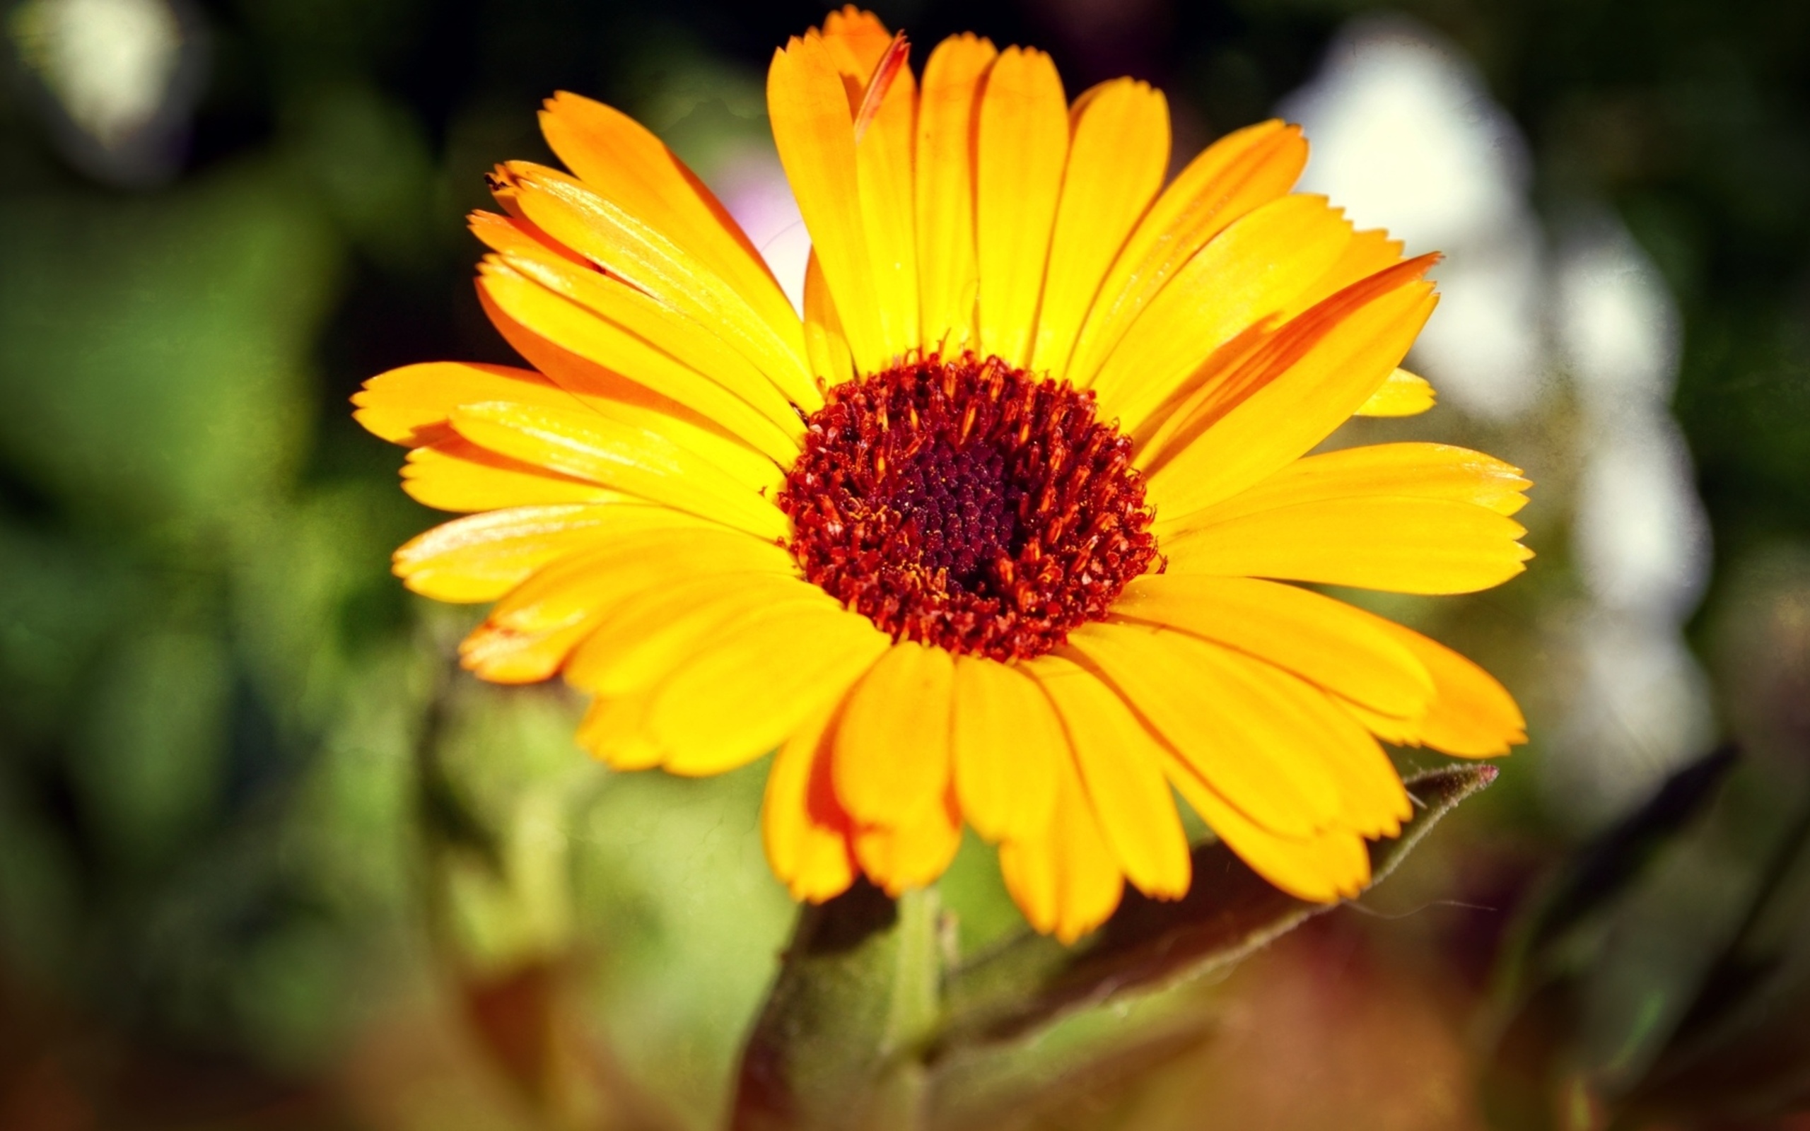
[[[1439,309],[1408,360],[1443,404],[1538,429],[1544,387],[1558,373],[1577,382],[1571,539],[1589,606],[1549,641],[1562,708],[1540,765],[1555,813],[1609,820],[1714,737],[1681,635],[1710,545],[1667,404],[1680,356],[1671,295],[1613,215],[1548,262],[1519,130],[1464,56],[1417,24],[1354,20],[1281,114],[1312,143],[1303,190],[1359,228],[1386,226],[1410,253],[1446,253]],[[1564,480],[1562,467],[1531,474]]]

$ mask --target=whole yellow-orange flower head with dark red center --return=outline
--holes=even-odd
[[[1432,404],[1434,308],[1265,121],[1167,186],[1160,92],[1070,103],[1050,58],[956,36],[923,76],[867,13],[778,51],[773,138],[813,241],[804,318],[646,128],[559,94],[570,172],[501,166],[478,290],[534,367],[409,366],[358,420],[471,512],[396,552],[496,601],[483,679],[565,673],[617,769],[778,747],[775,872],[827,899],[930,883],[967,822],[1073,939],[1122,883],[1189,887],[1171,787],[1305,899],[1368,881],[1408,798],[1377,738],[1524,740],[1448,648],[1287,583],[1488,588],[1528,481],[1434,443],[1309,454]],[[1205,879],[1211,883],[1211,878]]]

